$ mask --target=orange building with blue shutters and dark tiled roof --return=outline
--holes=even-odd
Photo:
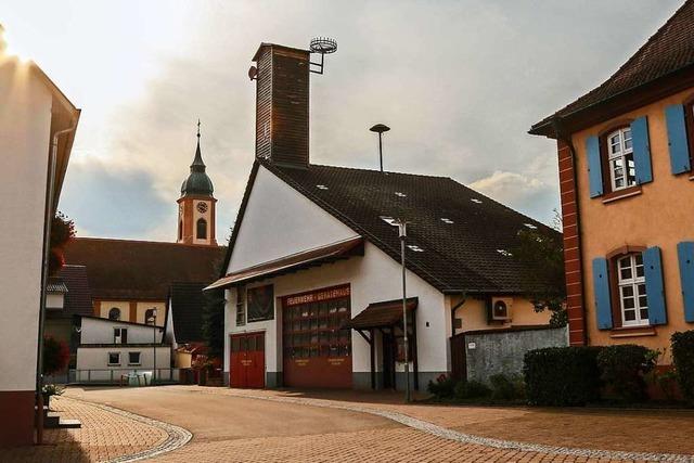
[[[557,141],[574,345],[667,349],[694,329],[693,102],[687,0],[604,83],[530,129]]]

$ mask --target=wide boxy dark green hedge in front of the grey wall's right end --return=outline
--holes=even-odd
[[[535,406],[584,406],[600,399],[600,347],[548,347],[526,352],[525,391]]]

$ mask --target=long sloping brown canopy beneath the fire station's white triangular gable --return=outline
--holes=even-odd
[[[271,276],[307,269],[309,267],[346,259],[350,256],[363,256],[363,239],[361,236],[356,236],[229,273],[224,278],[219,279],[207,286],[205,291],[236,286],[240,284],[250,283],[256,280],[265,280]]]

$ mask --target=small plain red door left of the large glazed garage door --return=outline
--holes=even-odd
[[[265,333],[231,336],[231,387],[265,387]]]

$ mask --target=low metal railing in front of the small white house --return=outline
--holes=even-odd
[[[127,369],[74,369],[69,370],[70,384],[112,384],[123,386],[150,386],[154,376],[151,368]],[[181,377],[181,369],[156,369],[154,384],[174,384]]]

